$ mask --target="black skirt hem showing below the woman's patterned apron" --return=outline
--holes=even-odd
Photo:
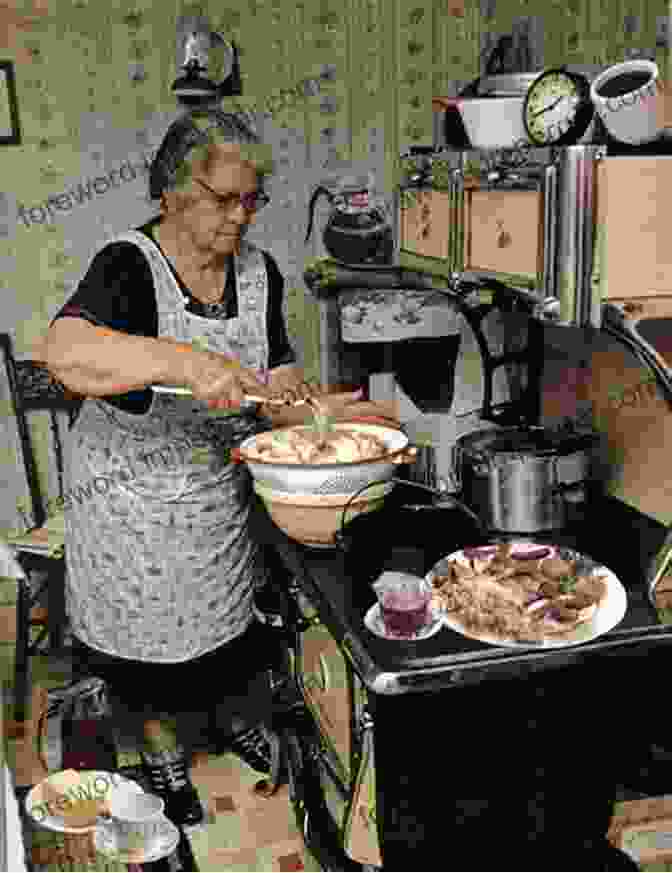
[[[235,640],[178,664],[118,658],[73,641],[80,674],[98,676],[131,711],[204,712],[226,697],[245,695],[261,672],[277,666],[277,634],[258,621]]]

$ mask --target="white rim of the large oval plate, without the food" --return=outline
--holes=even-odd
[[[528,548],[533,547],[529,543],[526,543],[525,545]],[[543,548],[543,546],[540,545],[539,548]],[[618,624],[621,623],[621,621],[623,621],[623,617],[625,616],[628,608],[628,596],[626,594],[625,588],[623,587],[617,576],[608,567],[605,567],[601,564],[596,564],[594,561],[591,561],[591,559],[588,558],[586,555],[582,555],[579,552],[562,548],[557,548],[557,551],[561,556],[563,554],[566,554],[568,557],[576,558],[578,560],[589,561],[594,564],[593,568],[590,571],[590,574],[605,577],[605,582],[607,586],[607,595],[596,610],[593,617],[590,619],[590,621],[585,622],[585,624],[579,625],[579,627],[577,627],[576,630],[574,630],[572,633],[564,634],[562,637],[548,636],[542,640],[530,640],[528,642],[522,640],[507,639],[491,634],[474,632],[473,630],[466,628],[462,624],[462,622],[460,622],[455,616],[451,615],[449,612],[446,612],[445,608],[443,609],[443,623],[446,625],[446,627],[451,628],[451,630],[457,631],[457,633],[461,634],[464,637],[467,637],[470,640],[478,640],[481,643],[489,643],[493,646],[504,646],[511,649],[529,649],[530,647],[564,649],[568,648],[569,646],[577,646],[581,643],[590,642],[591,640],[595,640],[598,637],[603,636],[610,630],[613,630]],[[459,561],[460,563],[464,563],[468,566],[468,559],[465,557],[462,550],[458,552],[453,552],[447,557],[441,558],[441,560],[438,561],[429,571],[426,579],[430,584],[432,584],[434,576],[445,575],[448,569],[447,564],[449,561]]]

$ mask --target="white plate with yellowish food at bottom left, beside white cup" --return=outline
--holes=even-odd
[[[99,816],[109,815],[114,792],[142,794],[131,779],[105,770],[60,770],[26,795],[26,812],[40,827],[61,834],[95,831]]]

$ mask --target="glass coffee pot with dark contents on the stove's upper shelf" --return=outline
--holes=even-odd
[[[319,185],[308,206],[308,242],[313,230],[315,204],[328,198],[331,213],[322,232],[332,258],[345,264],[391,264],[394,256],[392,227],[383,203],[372,202],[367,185],[341,185],[337,192]]]

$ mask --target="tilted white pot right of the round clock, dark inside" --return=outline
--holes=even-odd
[[[627,94],[609,97],[599,94],[616,76],[647,73],[650,81]],[[590,86],[590,96],[609,133],[628,145],[643,145],[658,138],[656,92],[658,66],[653,61],[634,60],[616,64],[600,73]]]

